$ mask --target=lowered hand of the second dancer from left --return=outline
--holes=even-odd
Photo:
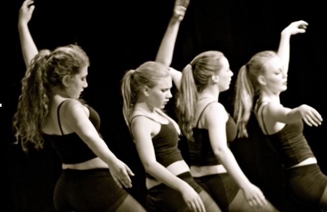
[[[203,202],[196,191],[187,183],[185,183],[185,188],[182,191],[182,196],[187,206],[193,212],[205,212]]]

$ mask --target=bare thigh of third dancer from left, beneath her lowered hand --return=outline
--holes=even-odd
[[[235,198],[233,201],[229,204],[229,211],[234,212],[234,211],[242,211],[242,212],[273,212],[273,211],[279,211],[277,210],[272,203],[268,201],[268,203],[263,207],[263,208],[258,208],[258,207],[251,207],[248,203],[248,201],[245,199],[245,196],[240,189],[239,192],[237,192]]]

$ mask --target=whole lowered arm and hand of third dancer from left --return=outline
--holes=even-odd
[[[205,111],[205,126],[209,131],[210,143],[216,157],[242,189],[245,198],[252,207],[263,207],[267,201],[261,190],[253,185],[237,164],[234,155],[227,146],[226,122],[228,114],[220,104],[211,104]],[[219,118],[217,118],[219,117]]]

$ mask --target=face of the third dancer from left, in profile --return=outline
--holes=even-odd
[[[224,92],[225,90],[229,89],[231,77],[234,74],[229,68],[229,63],[226,57],[221,58],[220,63],[223,68],[218,73],[218,77],[219,77],[218,86],[219,86],[219,91]]]

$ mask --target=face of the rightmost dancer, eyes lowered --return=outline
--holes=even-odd
[[[262,75],[264,87],[275,94],[285,91],[287,89],[287,73],[280,58],[275,56],[264,66],[265,73]]]

